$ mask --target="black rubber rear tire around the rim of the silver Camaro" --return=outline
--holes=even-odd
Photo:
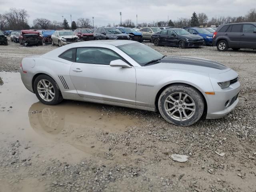
[[[38,82],[40,80],[47,80],[48,82],[50,82],[52,84],[53,90],[54,90],[54,98],[51,101],[45,101],[39,95],[37,86],[38,86]],[[34,92],[36,94],[36,97],[43,104],[46,104],[46,105],[56,105],[56,104],[60,103],[63,100],[63,97],[62,97],[62,94],[60,92],[60,88],[59,88],[58,84],[48,75],[39,75],[38,77],[36,77],[33,86],[34,86]]]

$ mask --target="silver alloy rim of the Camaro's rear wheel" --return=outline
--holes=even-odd
[[[46,79],[42,79],[38,82],[37,92],[44,101],[50,102],[54,99],[54,87],[52,83]]]

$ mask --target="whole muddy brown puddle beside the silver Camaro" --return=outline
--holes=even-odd
[[[19,73],[0,72],[0,77],[0,143],[19,140],[28,146],[25,155],[33,158],[33,152],[40,151],[34,156],[37,160],[106,159],[108,148],[98,141],[98,132],[124,132],[139,124],[138,118],[123,114],[122,108],[110,111],[112,106],[70,100],[44,105],[26,90]]]

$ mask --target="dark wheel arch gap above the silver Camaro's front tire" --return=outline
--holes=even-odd
[[[195,86],[193,86],[193,85],[191,85],[191,84],[184,83],[184,82],[182,82],[182,83],[174,82],[174,83],[167,84],[167,85],[163,86],[163,87],[157,92],[156,98],[155,98],[155,107],[156,107],[156,110],[157,110],[157,111],[158,111],[158,100],[159,100],[159,97],[160,97],[161,93],[162,93],[167,87],[172,86],[172,85],[185,85],[185,86],[190,86],[190,87],[196,89],[196,90],[201,94],[202,98],[204,99],[204,113],[203,113],[203,115],[207,113],[207,108],[208,108],[208,106],[207,106],[207,101],[206,101],[205,96],[202,94],[202,92],[201,92],[198,88],[196,88]]]

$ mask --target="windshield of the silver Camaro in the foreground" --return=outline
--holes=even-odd
[[[141,66],[152,60],[161,59],[164,55],[156,50],[141,44],[141,43],[130,43],[121,46],[117,46],[120,50],[130,56],[134,61],[136,61]]]

